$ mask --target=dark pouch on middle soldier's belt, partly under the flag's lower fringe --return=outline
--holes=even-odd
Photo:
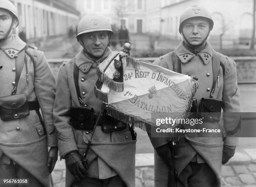
[[[122,131],[126,129],[126,126],[127,124],[106,114],[101,117],[101,129],[103,132]]]

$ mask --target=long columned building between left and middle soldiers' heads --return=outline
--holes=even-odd
[[[63,35],[76,29],[79,11],[64,0],[10,0],[18,11],[20,23],[14,33],[25,30],[26,38]],[[75,1],[73,1],[75,3]]]

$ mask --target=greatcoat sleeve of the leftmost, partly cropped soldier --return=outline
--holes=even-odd
[[[55,147],[57,146],[57,139],[52,114],[55,99],[55,79],[44,53],[39,50],[36,50],[36,53],[38,53],[38,58],[34,65],[34,89],[44,119],[44,126],[47,133],[47,146]]]

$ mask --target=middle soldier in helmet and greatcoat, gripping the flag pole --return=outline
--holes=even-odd
[[[104,59],[113,58],[115,52],[108,47],[112,34],[110,21],[105,16],[97,13],[85,15],[77,27],[77,40],[83,48],[59,69],[54,125],[59,154],[67,167],[66,187],[77,185],[78,181],[81,187],[135,186],[136,140],[129,125],[120,121],[100,116],[87,154],[88,167],[82,164],[95,126],[95,121],[83,122],[83,116],[97,118],[100,114],[102,102],[94,93],[95,83],[100,84],[97,66]],[[78,107],[77,110],[74,107]]]

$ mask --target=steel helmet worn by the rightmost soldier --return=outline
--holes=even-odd
[[[182,33],[182,23],[189,19],[194,17],[202,17],[206,18],[209,21],[209,31],[213,28],[213,20],[210,12],[206,10],[205,8],[202,8],[200,6],[191,6],[187,8],[187,10],[184,11],[184,13],[179,18],[179,33]]]

